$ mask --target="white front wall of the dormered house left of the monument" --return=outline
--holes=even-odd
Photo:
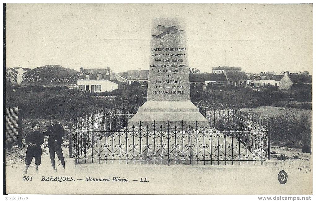
[[[89,90],[91,90],[91,85],[94,85],[94,92],[105,92],[112,91],[114,89],[119,89],[119,85],[111,82],[109,80],[78,80],[78,90],[80,89],[80,85],[84,85],[84,90],[86,89],[86,85],[89,85]],[[101,91],[96,91],[96,85],[101,85]]]

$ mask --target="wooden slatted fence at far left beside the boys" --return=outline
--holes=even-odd
[[[5,148],[22,147],[22,118],[18,107],[5,109]]]

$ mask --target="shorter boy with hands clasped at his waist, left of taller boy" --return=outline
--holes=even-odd
[[[30,166],[33,158],[35,158],[35,170],[38,171],[42,157],[42,147],[41,144],[44,143],[44,137],[40,133],[40,123],[31,123],[32,131],[28,132],[25,136],[25,144],[27,144],[27,150],[25,154],[25,170],[23,174],[27,173],[27,169]]]

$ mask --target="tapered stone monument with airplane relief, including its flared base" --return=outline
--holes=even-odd
[[[190,99],[188,49],[185,21],[177,18],[153,19],[147,102],[129,120],[128,126],[170,125],[209,127]]]

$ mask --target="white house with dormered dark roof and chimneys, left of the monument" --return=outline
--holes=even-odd
[[[92,93],[124,89],[126,85],[116,80],[110,68],[83,69],[82,67],[80,68],[80,76],[77,84],[78,90],[89,90]]]

